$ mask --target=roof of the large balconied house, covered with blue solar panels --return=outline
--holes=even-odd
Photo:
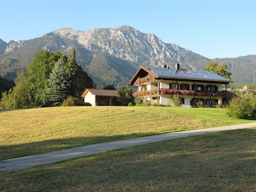
[[[206,70],[175,70],[172,68],[161,67],[143,67],[141,66],[134,77],[130,80],[130,85],[133,85],[138,77],[145,77],[146,74],[151,74],[154,78],[166,78],[177,80],[204,81],[204,82],[222,82],[229,83],[230,79],[224,78],[219,74]]]

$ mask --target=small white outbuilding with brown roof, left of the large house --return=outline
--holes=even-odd
[[[118,90],[86,89],[81,97],[91,106],[114,106],[118,104]]]

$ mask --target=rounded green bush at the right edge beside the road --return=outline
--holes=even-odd
[[[233,118],[255,118],[256,95],[246,93],[232,98],[227,106],[227,114]]]

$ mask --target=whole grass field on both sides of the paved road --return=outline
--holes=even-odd
[[[1,159],[252,122],[225,109],[56,107],[0,111]],[[256,128],[128,147],[0,173],[0,191],[256,191]],[[1,165],[0,165],[1,166]]]

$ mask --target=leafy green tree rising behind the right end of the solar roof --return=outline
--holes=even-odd
[[[219,74],[224,78],[230,78],[231,73],[227,70],[227,66],[225,63],[218,65],[217,62],[207,62],[206,66],[202,68],[202,70],[212,71],[215,74]]]

